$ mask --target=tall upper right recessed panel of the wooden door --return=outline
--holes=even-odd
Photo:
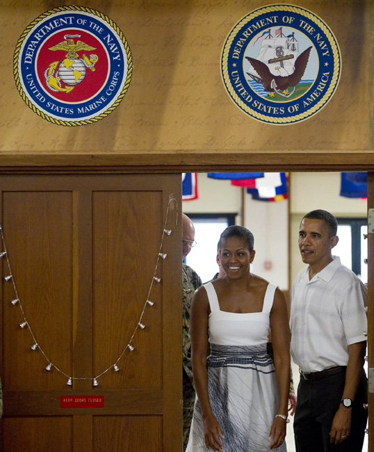
[[[162,211],[162,197],[159,192],[99,192],[94,193],[92,205],[97,375],[120,357],[147,301],[160,246],[155,238],[162,235],[162,225],[155,221]],[[143,216],[137,215],[139,207],[145,209]],[[157,273],[162,274],[161,261]],[[150,299],[160,297],[161,285],[154,282]],[[110,387],[161,388],[162,312],[154,307],[145,309],[145,328],[136,332],[132,342],[135,349],[127,350],[117,363],[121,371],[109,371],[105,376]],[[116,336],[111,333],[113,330],[118,332]]]

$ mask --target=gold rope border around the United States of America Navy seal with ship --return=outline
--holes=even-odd
[[[325,33],[327,40],[330,42],[330,45],[332,47],[332,54],[334,56],[334,70],[332,73],[332,80],[330,83],[329,88],[327,88],[327,91],[325,92],[325,95],[314,105],[312,108],[309,108],[307,112],[300,113],[298,115],[289,117],[289,118],[272,118],[267,115],[263,115],[262,113],[258,113],[257,111],[252,110],[249,106],[247,106],[241,98],[236,94],[236,91],[234,90],[233,86],[231,85],[230,79],[229,79],[229,69],[227,67],[227,59],[229,54],[229,49],[231,47],[231,43],[236,38],[236,33],[242,28],[243,24],[250,22],[250,20],[254,19],[255,17],[259,15],[263,15],[264,13],[273,13],[274,11],[279,10],[285,10],[291,13],[298,13],[300,15],[303,15],[304,17],[307,17],[308,19],[312,19],[314,23],[316,23],[320,29]],[[309,10],[301,9],[296,6],[292,5],[277,5],[274,6],[265,6],[263,8],[260,8],[259,10],[253,11],[253,13],[250,13],[249,16],[245,16],[238,24],[235,26],[235,28],[230,32],[229,37],[227,38],[226,44],[222,50],[222,78],[225,82],[225,86],[227,90],[229,91],[231,95],[231,99],[234,100],[234,102],[240,106],[246,113],[252,116],[252,118],[257,119],[261,122],[273,122],[275,125],[284,125],[284,124],[292,124],[294,122],[300,122],[302,120],[307,119],[309,116],[316,113],[316,111],[322,109],[330,100],[332,92],[335,90],[339,83],[340,78],[340,72],[339,67],[341,67],[341,58],[340,58],[340,51],[339,51],[339,45],[330,31],[330,29],[327,28],[325,22],[322,21],[317,15],[314,13],[311,13]]]

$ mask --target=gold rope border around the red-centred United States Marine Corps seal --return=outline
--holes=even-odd
[[[58,119],[52,118],[51,116],[47,115],[46,113],[40,111],[40,109],[38,107],[36,107],[32,102],[29,101],[28,97],[26,96],[26,94],[22,88],[21,82],[19,80],[19,72],[18,72],[19,51],[21,49],[22,42],[24,41],[26,36],[29,34],[29,31],[31,31],[31,29],[33,29],[33,27],[36,24],[38,24],[38,22],[42,21],[42,19],[44,19],[45,17],[48,17],[49,15],[52,15],[55,13],[60,13],[61,11],[69,11],[69,10],[83,11],[84,13],[90,13],[92,15],[96,15],[97,17],[100,17],[101,19],[104,19],[105,22],[107,22],[108,24],[111,25],[111,27],[115,30],[115,32],[119,36],[120,40],[123,42],[124,49],[125,49],[126,55],[127,55],[127,77],[126,77],[126,81],[124,83],[124,86],[122,88],[120,95],[117,97],[114,104],[110,108],[108,108],[108,110],[104,111],[104,113],[101,113],[100,115],[95,116],[95,118],[91,118],[89,120],[83,120],[83,121],[58,120]],[[129,88],[129,85],[130,85],[132,72],[133,72],[133,62],[132,62],[130,47],[129,47],[129,44],[127,43],[127,40],[124,37],[124,34],[122,33],[121,29],[117,26],[117,24],[115,24],[115,22],[113,22],[112,19],[110,19],[106,15],[100,13],[97,10],[93,10],[92,8],[86,8],[85,6],[75,6],[75,5],[58,6],[57,8],[48,10],[45,13],[43,13],[42,15],[38,16],[35,20],[33,20],[33,22],[31,22],[31,24],[29,24],[29,26],[24,30],[22,35],[19,37],[17,46],[15,48],[15,54],[13,56],[13,74],[15,77],[15,84],[17,86],[17,90],[19,91],[19,94],[21,95],[22,99],[24,99],[24,102],[26,103],[26,105],[28,105],[32,111],[37,113],[44,120],[52,122],[53,124],[58,124],[58,125],[63,125],[63,126],[83,126],[86,124],[92,124],[103,118],[106,118],[106,116],[108,116],[110,113],[112,113],[113,110],[115,110],[115,108],[117,108],[118,104],[120,104],[120,102],[124,98],[124,95],[126,94],[127,89]]]

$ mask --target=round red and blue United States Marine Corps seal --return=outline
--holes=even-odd
[[[129,45],[106,15],[83,6],[59,6],[37,17],[17,42],[19,94],[54,124],[92,124],[117,108],[131,81]]]

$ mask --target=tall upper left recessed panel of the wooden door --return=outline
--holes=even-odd
[[[19,327],[24,316],[10,300],[17,298],[15,282],[35,340],[48,357],[54,357],[56,366],[72,373],[72,195],[6,192],[2,207],[3,236],[13,273],[13,280],[3,281],[3,360],[7,364],[3,385],[13,391],[63,389],[66,382],[55,372],[42,371],[48,362],[31,350],[33,337],[27,328]]]

